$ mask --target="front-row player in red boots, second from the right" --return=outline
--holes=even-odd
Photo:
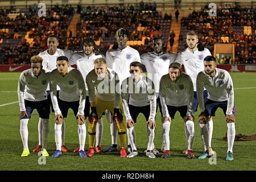
[[[176,111],[185,122],[185,132],[188,134],[188,159],[194,159],[192,147],[195,138],[194,117],[193,117],[193,82],[191,77],[181,73],[181,65],[172,63],[169,66],[169,73],[162,76],[160,80],[160,100],[163,111],[163,147],[162,158],[170,156],[169,131],[172,119]]]

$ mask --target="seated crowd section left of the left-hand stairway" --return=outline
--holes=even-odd
[[[29,6],[26,10],[0,9],[0,64],[26,64],[32,55],[47,49],[47,36],[59,36],[59,48],[67,46],[67,28],[75,12],[72,6],[55,5],[46,11],[46,16],[38,16],[38,7]],[[17,13],[10,18],[9,13]],[[28,43],[25,35],[29,32]],[[18,39],[18,42],[13,42]],[[0,40],[1,43],[1,40]]]

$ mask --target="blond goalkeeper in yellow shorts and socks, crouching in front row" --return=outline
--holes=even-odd
[[[106,67],[106,60],[98,58],[94,60],[94,69],[86,76],[88,86],[91,113],[89,115],[89,151],[87,155],[94,154],[94,139],[96,135],[97,120],[102,117],[103,111],[110,110],[113,114],[114,125],[117,125],[118,135],[121,141],[121,158],[126,157],[125,150],[125,125],[123,116],[119,111],[120,85],[117,73]],[[96,93],[95,93],[96,90]]]

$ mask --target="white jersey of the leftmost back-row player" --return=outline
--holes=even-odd
[[[46,71],[53,71],[53,69],[56,69],[56,60],[60,56],[66,56],[68,59],[72,56],[73,51],[68,51],[64,49],[57,49],[54,55],[49,55],[48,49],[46,51],[40,52],[38,56],[43,58],[43,69]],[[47,87],[47,90],[49,90],[49,85]],[[60,90],[59,86],[57,86],[57,90]]]

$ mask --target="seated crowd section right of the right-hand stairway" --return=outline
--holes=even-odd
[[[200,41],[212,53],[215,43],[234,43],[235,63],[255,64],[255,22],[256,15],[253,7],[240,7],[236,4],[218,8],[217,16],[209,16],[209,9],[206,6],[200,11],[193,11],[187,18],[182,18],[181,28],[195,30],[200,35]],[[251,27],[251,35],[244,33],[244,26]],[[179,39],[179,51],[185,47],[185,31],[183,33]],[[228,37],[228,40],[224,40],[222,37]]]

